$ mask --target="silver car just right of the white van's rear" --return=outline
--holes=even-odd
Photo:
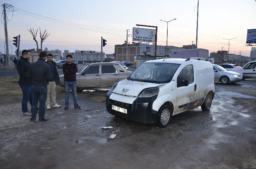
[[[240,73],[227,71],[220,65],[212,64],[214,70],[215,81],[221,82],[222,84],[228,84],[229,82],[241,82],[243,76]]]

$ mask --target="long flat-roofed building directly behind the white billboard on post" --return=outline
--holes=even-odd
[[[169,57],[170,50],[183,49],[174,46],[157,45],[156,57]],[[134,56],[137,60],[152,60],[155,58],[155,45],[147,43],[126,43],[122,45],[115,45],[115,61],[134,61]]]

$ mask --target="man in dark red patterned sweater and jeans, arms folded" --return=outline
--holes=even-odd
[[[66,63],[63,64],[62,67],[63,74],[64,74],[64,88],[65,88],[65,108],[68,109],[69,107],[69,92],[70,88],[72,90],[73,100],[74,100],[74,107],[81,108],[78,105],[78,98],[76,94],[76,72],[77,72],[77,65],[72,62],[72,55],[66,55]]]

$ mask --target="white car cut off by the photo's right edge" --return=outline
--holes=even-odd
[[[243,79],[256,78],[256,61],[250,61],[243,68],[233,71],[243,74]]]

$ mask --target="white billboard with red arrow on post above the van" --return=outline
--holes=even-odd
[[[133,41],[156,42],[156,30],[133,27]]]

